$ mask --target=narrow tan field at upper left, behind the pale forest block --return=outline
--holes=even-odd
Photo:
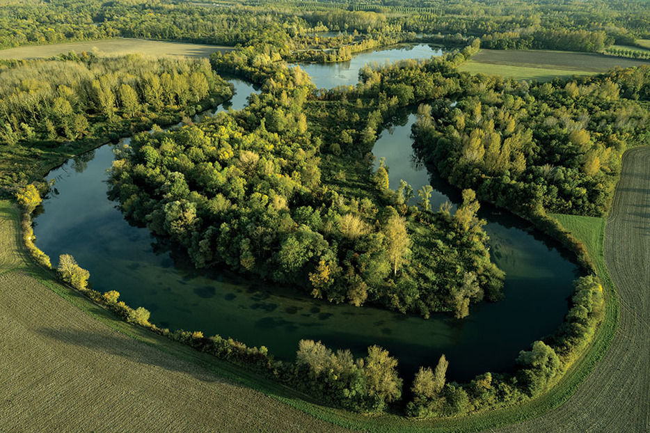
[[[70,42],[53,45],[28,45],[25,47],[0,50],[0,59],[7,58],[49,58],[71,51],[92,52],[97,49],[103,54],[143,53],[152,56],[189,56],[208,57],[216,51],[230,51],[232,47],[216,45],[186,44],[184,42],[165,42],[161,40],[143,39],[110,39],[90,40],[86,42]]]

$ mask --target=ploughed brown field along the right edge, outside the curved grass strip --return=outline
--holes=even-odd
[[[608,352],[561,407],[500,432],[650,432],[650,148],[624,155],[605,228],[621,301]]]

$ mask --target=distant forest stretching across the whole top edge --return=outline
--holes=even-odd
[[[597,52],[612,43],[650,37],[643,2],[553,1],[186,1],[70,0],[8,2],[0,6],[0,47],[26,44],[148,38],[223,45],[274,40],[296,53],[372,47],[386,37],[415,34],[479,37],[484,47]],[[319,38],[317,32],[342,32]],[[345,48],[349,47],[349,48]],[[333,53],[328,53],[328,55]],[[305,54],[301,54],[305,56]]]

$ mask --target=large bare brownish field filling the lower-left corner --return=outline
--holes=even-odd
[[[93,319],[33,277],[16,223],[0,212],[1,432],[340,430]]]

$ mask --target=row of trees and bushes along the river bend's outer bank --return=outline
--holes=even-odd
[[[579,358],[605,311],[599,281],[592,276],[579,278],[564,324],[553,335],[535,341],[530,350],[519,352],[513,374],[486,372],[466,384],[448,381],[449,361],[443,354],[434,368],[420,368],[405,393],[397,360],[379,346],[370,346],[367,356],[355,358],[349,350],[334,352],[321,342],[301,340],[294,362],[277,361],[264,346],[247,347],[232,338],[206,337],[200,331],[159,328],[150,322],[146,308],[127,306],[119,301],[116,290],[102,294],[88,287],[88,271],[71,255],[61,255],[57,271],[63,282],[132,324],[308,393],[326,405],[364,414],[391,410],[412,418],[461,416],[522,403],[544,393]],[[404,395],[409,396],[406,401]]]

